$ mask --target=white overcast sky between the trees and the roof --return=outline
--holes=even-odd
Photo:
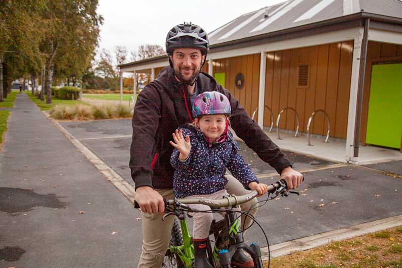
[[[99,0],[104,17],[98,50],[126,46],[135,51],[143,44],[165,48],[167,32],[183,22],[203,27],[207,33],[233,19],[284,0]],[[129,56],[130,58],[130,56]]]

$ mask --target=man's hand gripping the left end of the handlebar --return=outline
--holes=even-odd
[[[135,201],[140,206],[142,212],[148,214],[163,214],[165,212],[163,197],[153,190],[152,187],[138,187],[135,191]]]

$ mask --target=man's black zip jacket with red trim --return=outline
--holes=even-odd
[[[204,72],[199,74],[196,83],[200,93],[218,91],[228,97],[232,107],[231,127],[262,160],[279,174],[290,166],[279,147],[251,120],[226,88]],[[174,169],[170,165],[170,155],[174,147],[169,141],[173,140],[172,133],[180,125],[191,121],[190,113],[187,88],[174,78],[170,66],[164,68],[138,95],[130,148],[131,177],[136,189],[141,186],[172,188]]]

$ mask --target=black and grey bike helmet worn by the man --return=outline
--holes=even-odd
[[[167,54],[171,55],[176,48],[199,48],[206,55],[210,49],[207,32],[191,23],[174,26],[166,36]]]

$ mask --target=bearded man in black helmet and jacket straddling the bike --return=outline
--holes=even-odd
[[[136,187],[135,200],[142,212],[144,236],[138,267],[160,267],[168,246],[173,217],[162,222],[162,215],[163,198],[173,198],[174,170],[170,165],[173,146],[169,141],[178,126],[193,120],[190,111],[198,94],[218,91],[228,97],[232,108],[231,123],[236,134],[281,174],[289,189],[295,189],[302,182],[302,174],[291,168],[278,146],[251,120],[230,92],[213,77],[200,72],[208,50],[208,36],[201,27],[191,23],[173,27],[166,37],[170,66],[144,88],[135,105],[130,168]],[[229,193],[247,193],[231,175],[227,179]],[[255,202],[252,200],[241,209],[248,211]],[[255,215],[256,209],[251,213]],[[250,220],[242,218],[243,229],[249,224]],[[235,256],[235,262],[238,266],[253,267],[253,261],[243,252]]]

